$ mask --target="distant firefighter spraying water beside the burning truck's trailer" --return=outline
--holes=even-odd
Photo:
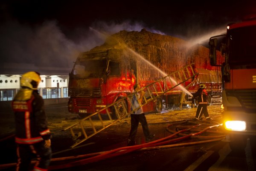
[[[193,95],[193,98],[198,97],[198,108],[195,115],[195,120],[202,120],[202,115],[206,120],[211,120],[207,110],[207,91],[205,84],[199,84],[198,91]]]

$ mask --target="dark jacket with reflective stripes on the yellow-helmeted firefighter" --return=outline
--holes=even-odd
[[[51,138],[44,111],[44,100],[37,90],[21,88],[12,101],[15,113],[15,142],[34,144]]]

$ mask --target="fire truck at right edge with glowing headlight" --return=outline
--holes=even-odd
[[[227,25],[226,34],[210,37],[210,63],[222,70],[223,128],[233,151],[256,137],[256,15]],[[225,57],[218,63],[217,50]]]

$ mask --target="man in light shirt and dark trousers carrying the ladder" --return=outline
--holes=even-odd
[[[137,129],[138,129],[139,123],[141,123],[141,125],[142,125],[146,142],[149,142],[155,136],[155,135],[151,135],[149,133],[148,123],[147,123],[145,114],[143,113],[143,108],[140,107],[145,92],[143,90],[139,91],[140,90],[139,84],[134,85],[134,90],[135,90],[135,94],[133,95],[133,97],[131,99],[131,103],[132,103],[131,110],[134,110],[134,109],[135,110],[134,110],[134,113],[131,114],[131,131],[130,131],[130,135],[128,137],[128,144],[127,144],[128,146],[136,145],[135,136],[137,134]]]

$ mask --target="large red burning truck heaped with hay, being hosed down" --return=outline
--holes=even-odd
[[[188,49],[186,45],[187,42],[179,38],[154,34],[145,29],[140,32],[120,31],[113,34],[102,46],[83,52],[77,57],[69,75],[68,110],[82,117],[92,114],[122,97],[127,97],[134,91],[135,83],[144,87],[191,63],[195,63],[194,67],[198,69],[217,70],[215,66],[209,65],[208,48],[197,45]],[[215,85],[212,86],[212,83],[217,84],[217,94],[221,93],[221,78],[217,78],[202,79],[198,74],[183,86],[189,85],[189,91],[196,91],[199,82],[204,80],[209,85],[208,91],[211,91],[209,98],[214,98],[215,92],[212,90]],[[151,94],[146,96],[155,96],[161,86],[165,87],[164,83],[152,89]],[[164,105],[168,107],[188,101],[189,97],[186,94],[182,96],[182,92],[179,87],[172,92],[166,92],[153,102],[143,105],[143,111],[160,113]],[[119,113],[124,108],[130,110],[131,104],[128,100],[117,105]],[[109,112],[112,117],[116,117],[114,108]],[[102,111],[102,114],[106,113]]]

